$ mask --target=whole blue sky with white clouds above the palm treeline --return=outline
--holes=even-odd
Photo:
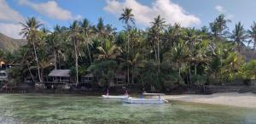
[[[255,0],[0,0],[0,32],[20,38],[20,21],[36,16],[46,27],[70,25],[73,20],[87,18],[96,24],[99,17],[105,23],[122,29],[118,20],[122,8],[129,7],[135,14],[136,25],[145,28],[161,14],[168,24],[200,28],[208,25],[218,14],[232,20],[230,30],[241,21],[245,28],[256,20]]]

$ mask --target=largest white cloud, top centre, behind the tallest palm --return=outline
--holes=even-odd
[[[182,7],[171,0],[155,0],[152,6],[143,5],[136,0],[106,0],[107,5],[103,8],[110,14],[120,16],[123,8],[132,8],[132,13],[140,25],[150,25],[150,22],[157,16],[161,15],[167,23],[180,23],[183,26],[199,25],[201,20],[193,14],[188,14]]]

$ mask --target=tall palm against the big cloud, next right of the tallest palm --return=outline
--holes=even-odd
[[[158,15],[151,23],[153,25],[154,37],[157,41],[158,71],[160,72],[160,33],[163,31],[166,21]]]

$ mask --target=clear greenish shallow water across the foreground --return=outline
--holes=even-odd
[[[256,110],[212,104],[123,104],[100,97],[0,94],[0,123],[256,123]]]

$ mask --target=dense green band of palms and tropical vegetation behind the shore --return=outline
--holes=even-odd
[[[131,8],[119,20],[125,25],[122,31],[102,18],[96,25],[74,20],[49,31],[36,18],[27,18],[20,31],[27,44],[12,54],[1,51],[0,59],[20,64],[9,70],[15,82],[28,76],[44,82],[53,69],[71,69],[75,83],[91,73],[95,83],[104,85],[121,73],[129,84],[166,91],[256,78],[255,22],[248,31],[241,22],[230,31],[230,20],[220,14],[209,26],[195,29],[169,25],[158,15],[142,30]]]

